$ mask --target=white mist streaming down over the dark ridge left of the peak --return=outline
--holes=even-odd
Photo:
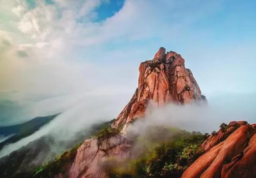
[[[76,97],[69,96],[68,98],[71,100],[71,105],[70,102],[58,103],[58,101],[62,102],[62,100],[56,98],[57,100],[41,102],[40,107],[34,107],[34,109],[42,110],[42,108],[49,106],[49,104],[52,105],[51,102],[54,102],[58,104],[59,109],[62,108],[63,110],[65,108],[65,110],[36,133],[16,143],[6,145],[0,151],[0,157],[8,155],[42,136],[53,137],[54,144],[51,143],[50,145],[51,151],[54,153],[54,151],[58,150],[57,153],[60,154],[65,151],[70,141],[77,139],[80,131],[86,132],[94,123],[111,120],[118,114],[121,106],[124,105],[124,102],[116,98],[116,95],[93,96],[93,94],[82,94]]]

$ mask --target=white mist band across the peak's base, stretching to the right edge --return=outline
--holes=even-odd
[[[245,120],[255,123],[256,101],[250,100],[252,94],[225,94],[205,103],[188,105],[168,104],[161,108],[148,108],[145,119],[138,119],[128,127],[128,133],[137,135],[149,126],[166,126],[211,133],[218,131],[221,123]],[[221,98],[221,99],[220,99]],[[248,105],[245,105],[247,103]]]

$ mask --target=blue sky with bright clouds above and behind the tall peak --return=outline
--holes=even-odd
[[[209,101],[255,96],[255,8],[252,0],[2,0],[0,100],[18,108],[88,92],[124,95],[125,104],[138,65],[159,47],[182,55]]]

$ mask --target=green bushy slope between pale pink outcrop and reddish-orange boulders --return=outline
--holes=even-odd
[[[181,177],[188,166],[203,154],[200,145],[209,135],[176,128],[150,130],[154,132],[137,137],[135,147],[140,150],[135,149],[132,154],[141,150],[143,153],[122,163],[110,160],[113,166],[107,171],[111,178]]]

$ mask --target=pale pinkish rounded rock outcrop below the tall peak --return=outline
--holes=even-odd
[[[105,161],[111,157],[116,160],[128,158],[130,146],[130,140],[118,133],[84,141],[77,151],[69,178],[108,178],[102,168]]]

